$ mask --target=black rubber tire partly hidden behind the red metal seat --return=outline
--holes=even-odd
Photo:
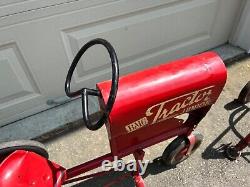
[[[33,140],[15,140],[0,143],[0,155],[7,156],[16,150],[25,150],[34,152],[44,158],[49,158],[45,146]]]

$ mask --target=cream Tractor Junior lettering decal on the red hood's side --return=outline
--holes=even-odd
[[[214,86],[206,87],[153,105],[147,109],[144,117],[126,125],[125,129],[130,133],[146,125],[152,125],[189,111],[211,105],[212,101],[210,96],[213,87]]]

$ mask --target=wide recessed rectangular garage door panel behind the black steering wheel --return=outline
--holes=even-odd
[[[136,16],[126,15],[117,19],[112,18],[111,21],[103,20],[90,27],[81,25],[65,29],[63,37],[69,62],[83,44],[101,37],[115,47],[121,67],[134,66],[131,63],[133,60],[138,63],[137,69],[143,68],[147,66],[147,54],[152,56],[154,53],[166,52],[186,43],[193,45],[200,40],[208,40],[215,21],[217,3],[215,0],[183,1],[182,4],[167,4],[165,7],[161,6]],[[166,23],[169,26],[166,26]],[[109,63],[108,55],[102,48],[95,47],[87,52],[77,67],[75,81],[79,84],[78,87],[83,85],[84,81],[101,80],[110,69]],[[94,80],[91,80],[93,78]]]

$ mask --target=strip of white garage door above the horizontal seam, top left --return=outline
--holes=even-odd
[[[20,0],[0,4],[0,27],[68,14],[117,0]]]

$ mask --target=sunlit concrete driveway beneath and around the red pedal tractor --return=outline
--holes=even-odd
[[[238,96],[241,88],[250,80],[250,59],[242,60],[228,67],[228,80],[218,102],[202,120],[197,130],[204,135],[201,147],[176,168],[167,168],[154,162],[144,175],[147,186],[250,186],[250,148],[243,157],[229,161],[218,150],[220,145],[239,141],[240,136],[250,132],[250,112],[246,106],[231,102]],[[146,149],[145,159],[154,160],[161,156],[170,140]],[[95,157],[108,153],[109,144],[104,128],[89,131],[82,127],[46,142],[50,159],[65,167],[72,167]],[[129,160],[132,157],[126,157]],[[111,173],[72,184],[70,186],[102,186],[120,176]],[[133,186],[131,178],[113,186]]]

